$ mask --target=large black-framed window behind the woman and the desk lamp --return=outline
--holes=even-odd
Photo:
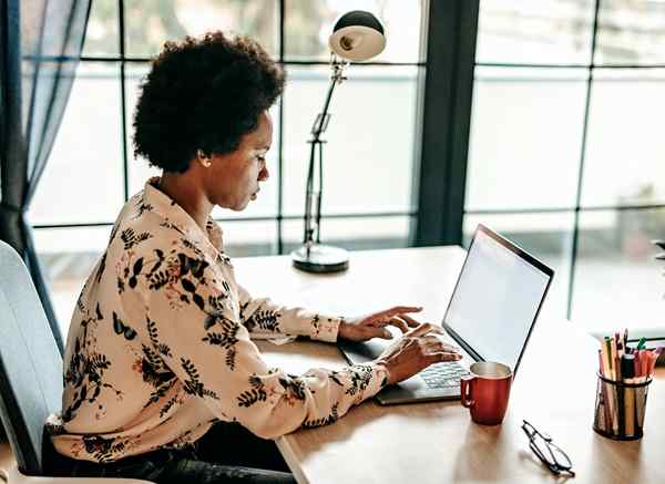
[[[321,240],[356,249],[408,245],[416,215],[411,179],[426,6],[421,0],[92,0],[83,56],[30,213],[63,329],[122,204],[158,173],[133,159],[132,114],[151,56],[165,41],[187,34],[219,29],[250,35],[287,72],[285,94],[273,107],[270,181],[242,214],[213,212],[231,255],[287,254],[303,234],[307,140],[328,89],[330,29],[352,9],[378,14],[388,35],[386,51],[368,65],[350,66],[330,107]],[[395,103],[385,102],[388,94]]]

